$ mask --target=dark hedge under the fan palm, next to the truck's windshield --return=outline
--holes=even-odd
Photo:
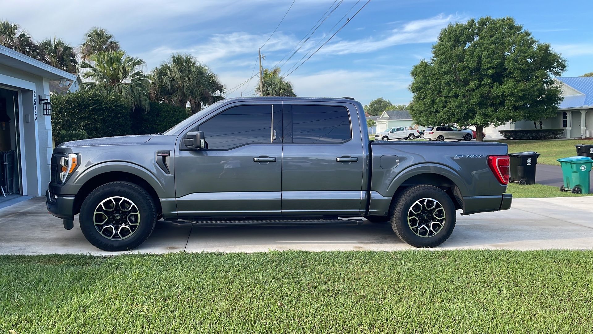
[[[167,131],[190,114],[186,108],[165,102],[151,102],[149,111],[136,108],[132,115],[132,131],[135,134],[152,134]]]

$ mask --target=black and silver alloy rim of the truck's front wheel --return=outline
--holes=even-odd
[[[101,201],[93,213],[95,228],[110,240],[124,240],[136,232],[140,224],[140,212],[132,200],[113,196]]]

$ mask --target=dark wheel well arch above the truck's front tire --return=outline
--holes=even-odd
[[[74,214],[80,212],[80,207],[82,206],[82,202],[85,198],[87,198],[88,194],[91,191],[95,190],[100,185],[114,182],[114,181],[128,181],[139,185],[140,187],[144,188],[152,199],[154,200],[155,205],[157,206],[157,213],[160,216],[162,213],[161,209],[161,201],[159,200],[157,191],[152,188],[145,179],[139,177],[138,175],[134,175],[127,172],[107,172],[99,175],[95,175],[93,178],[85,182],[84,185],[80,188],[76,196],[74,197]]]

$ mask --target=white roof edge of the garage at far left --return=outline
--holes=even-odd
[[[76,80],[76,74],[62,71],[2,45],[0,45],[0,64],[50,80],[60,80],[62,78],[70,81]]]

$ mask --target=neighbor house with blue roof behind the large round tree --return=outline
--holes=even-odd
[[[487,127],[484,128],[486,138],[502,138],[499,130],[526,130],[536,127],[562,128],[562,138],[593,138],[593,77],[559,77],[555,80],[560,83],[563,96],[556,116],[543,118],[535,123],[522,120],[511,121],[500,127]]]

